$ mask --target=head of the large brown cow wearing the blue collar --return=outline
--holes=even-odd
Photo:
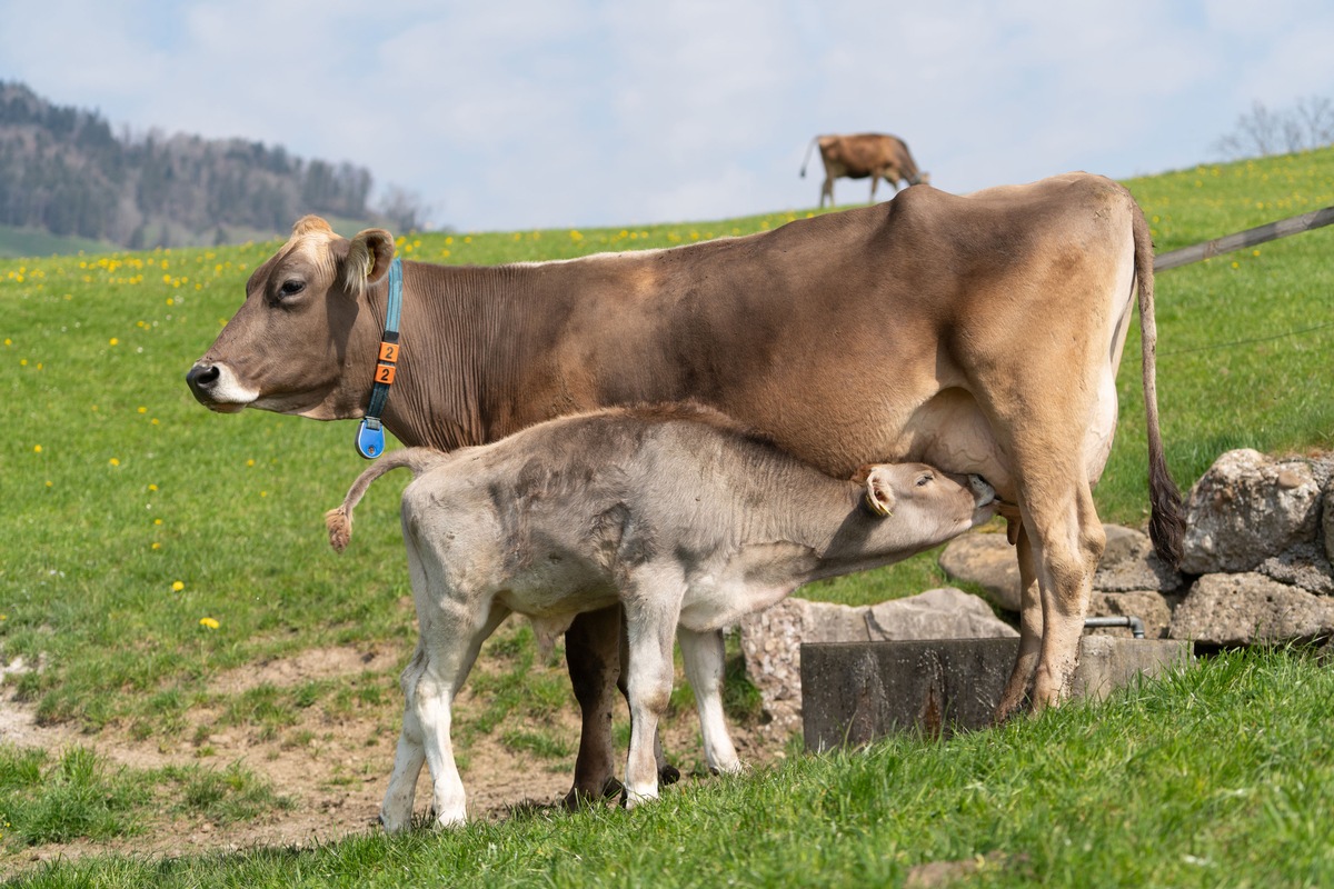
[[[189,391],[224,413],[362,416],[383,316],[383,308],[370,311],[370,299],[392,259],[394,237],[384,229],[350,241],[317,216],[301,219],[251,275],[245,303],[185,375]]]

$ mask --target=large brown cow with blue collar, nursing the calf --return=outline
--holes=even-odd
[[[367,411],[394,239],[323,220],[251,276],[188,375],[215,411]],[[499,268],[403,263],[402,355],[384,412],[404,444],[455,449],[603,405],[694,397],[835,477],[866,462],[975,473],[1018,505],[1021,646],[998,716],[1067,693],[1105,545],[1091,485],[1117,421],[1138,291],[1150,532],[1181,552],[1154,384],[1153,245],[1125,188],[1069,173],[874,207],[672,249]],[[1041,588],[1041,596],[1039,596]],[[584,716],[572,793],[599,793],[619,617],[566,637]]]

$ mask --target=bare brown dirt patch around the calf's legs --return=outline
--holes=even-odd
[[[367,672],[392,676],[396,664],[396,654],[387,652],[312,649],[220,674],[209,684],[209,690],[237,694],[265,684],[295,688],[307,681],[356,677]],[[486,657],[475,669],[487,669]],[[563,674],[564,668],[542,669],[558,669]],[[143,834],[131,838],[45,845],[17,853],[0,849],[0,874],[21,872],[47,860],[88,853],[177,856],[255,846],[307,846],[378,830],[376,816],[394,761],[403,708],[402,696],[395,692],[384,694],[379,704],[358,706],[350,713],[340,710],[338,716],[329,716],[320,706],[300,710],[297,721],[285,726],[277,737],[263,726],[236,725],[136,740],[121,728],[81,734],[69,726],[41,726],[33,718],[32,706],[7,698],[0,698],[0,742],[37,746],[52,753],[77,744],[96,750],[108,762],[135,769],[188,764],[223,769],[241,762],[261,776],[275,793],[291,800],[292,806],[247,824],[219,825],[160,816],[147,825]],[[482,710],[482,702],[471,692],[471,682],[459,696],[456,706],[462,718]],[[192,728],[207,728],[216,717],[216,713],[203,708],[189,713]],[[518,716],[518,720],[522,718]],[[731,728],[744,761],[758,765],[780,754],[780,745],[760,741],[755,730],[738,725]],[[460,745],[459,770],[468,792],[470,816],[496,820],[518,806],[558,805],[570,789],[574,757],[551,760],[515,752],[499,741],[500,730]],[[572,698],[556,713],[550,732],[575,749],[579,720]],[[203,740],[192,740],[200,737]],[[683,772],[694,768],[700,756],[699,721],[694,712],[676,713],[667,721],[664,744]],[[423,769],[416,812],[423,812],[430,798],[430,778]]]

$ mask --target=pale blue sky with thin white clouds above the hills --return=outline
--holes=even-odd
[[[1331,48],[1330,0],[0,0],[0,80],[363,165],[460,232],[810,208],[820,133],[951,192],[1187,168],[1334,99]]]

